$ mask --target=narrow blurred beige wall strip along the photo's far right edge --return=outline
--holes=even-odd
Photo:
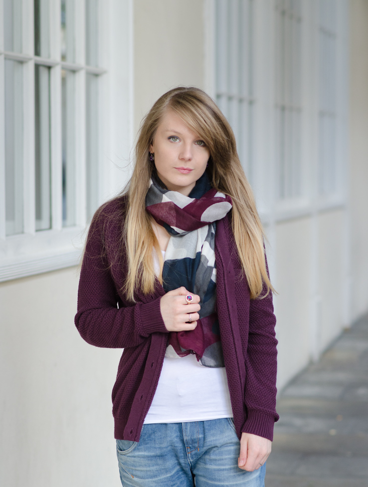
[[[368,0],[350,2],[352,318],[368,310]]]

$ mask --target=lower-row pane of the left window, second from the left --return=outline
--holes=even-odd
[[[51,228],[50,69],[34,67],[36,230]]]

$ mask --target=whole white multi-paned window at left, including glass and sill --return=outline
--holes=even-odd
[[[131,5],[3,0],[0,8],[0,280],[6,280],[76,264],[73,239],[107,198],[100,177],[105,127],[114,119],[126,130],[130,117]],[[119,52],[107,36],[111,29]],[[119,88],[117,79],[124,80]],[[124,90],[114,108],[106,84],[111,95]],[[123,121],[116,123],[118,114]]]

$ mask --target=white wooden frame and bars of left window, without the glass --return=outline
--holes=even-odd
[[[73,266],[78,263],[86,227],[85,73],[101,76],[99,86],[100,135],[98,162],[98,203],[119,192],[128,173],[122,160],[129,159],[133,115],[133,0],[103,0],[99,3],[99,61],[103,68],[84,65],[84,31],[76,29],[75,60],[60,60],[60,1],[50,0],[50,58],[34,56],[33,1],[22,0],[22,53],[4,52],[3,0],[0,0],[0,281]],[[84,1],[75,3],[75,24],[84,25]],[[83,30],[83,29],[82,29]],[[113,34],[113,35],[112,35]],[[21,61],[23,76],[23,233],[5,236],[4,157],[4,59]],[[34,175],[34,64],[50,66],[52,228],[35,230]],[[77,188],[76,225],[64,227],[61,194],[61,69],[76,72],[76,136],[74,157]],[[119,166],[121,168],[119,168]]]

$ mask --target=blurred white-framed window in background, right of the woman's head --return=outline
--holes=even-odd
[[[264,222],[344,205],[348,2],[207,5],[213,92]]]

